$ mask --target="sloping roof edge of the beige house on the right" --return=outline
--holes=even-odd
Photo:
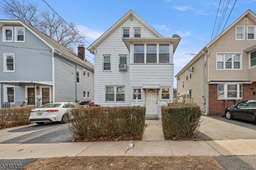
[[[218,36],[216,36],[216,38],[214,38],[210,43],[208,43],[205,47],[203,47],[200,52],[195,55],[179,72],[178,74],[175,75],[175,77],[178,77],[178,75],[180,75],[181,73],[183,73],[183,71],[185,71],[190,64],[192,64],[194,61],[196,61],[197,59],[199,59],[199,57],[202,56],[202,51],[204,51],[204,49],[210,47],[210,45],[212,45],[212,43],[214,43],[215,41],[217,41],[223,34],[225,34],[230,28],[232,28],[238,21],[240,21],[244,16],[247,16],[250,20],[252,20],[253,22],[256,23],[256,14],[254,14],[254,12],[252,12],[251,10],[247,10],[246,12],[244,12],[244,14],[242,14],[237,20],[235,20],[230,26],[228,26],[228,28],[226,28],[222,33],[220,33]],[[247,50],[247,49],[246,49]],[[247,52],[247,51],[246,51]]]

